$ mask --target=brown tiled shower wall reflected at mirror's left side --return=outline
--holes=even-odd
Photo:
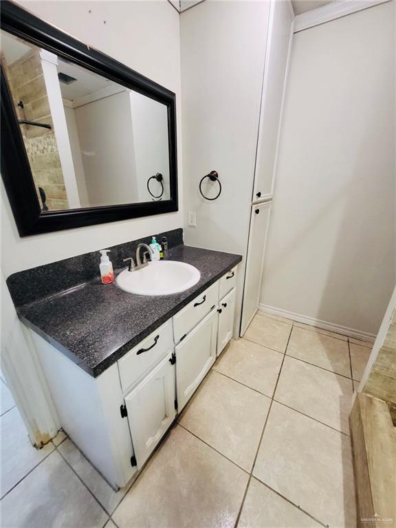
[[[2,57],[2,63],[18,118],[52,125],[39,50],[32,47],[8,65]],[[23,108],[18,106],[19,101],[23,102]],[[38,196],[41,187],[50,210],[67,209],[65,181],[54,129],[23,124],[21,131]],[[41,204],[40,197],[39,201]]]

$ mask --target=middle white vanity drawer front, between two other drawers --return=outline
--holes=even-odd
[[[206,314],[209,314],[210,309],[217,305],[219,298],[219,281],[212,284],[203,294],[197,296],[186,307],[184,307],[178,314],[173,317],[173,335],[175,336],[175,343],[180,341],[180,338],[185,336],[201,321]]]

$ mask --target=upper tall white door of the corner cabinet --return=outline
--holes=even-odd
[[[253,201],[269,199],[273,192],[276,145],[293,18],[289,2],[271,2]]]

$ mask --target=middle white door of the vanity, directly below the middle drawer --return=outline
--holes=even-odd
[[[216,359],[217,316],[217,309],[212,309],[210,314],[175,347],[179,412]]]

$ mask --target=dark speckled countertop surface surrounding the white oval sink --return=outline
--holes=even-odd
[[[199,282],[179,294],[153,297],[129,294],[115,282],[102,285],[98,276],[82,285],[17,306],[19,318],[87,373],[97,377],[242,258],[177,245],[168,250],[166,259],[197,267],[201,273]]]

